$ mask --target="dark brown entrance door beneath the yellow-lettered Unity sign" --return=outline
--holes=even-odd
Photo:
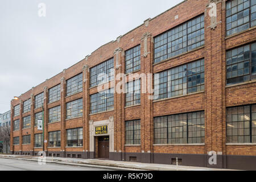
[[[109,136],[98,137],[98,158],[109,159]]]

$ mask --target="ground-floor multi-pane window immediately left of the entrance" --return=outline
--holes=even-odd
[[[67,130],[67,147],[82,147],[82,127]]]

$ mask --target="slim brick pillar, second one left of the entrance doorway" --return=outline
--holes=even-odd
[[[61,147],[61,157],[65,157],[65,88],[66,80],[64,77],[60,79],[60,121],[61,121],[61,131],[60,131],[60,147]]]

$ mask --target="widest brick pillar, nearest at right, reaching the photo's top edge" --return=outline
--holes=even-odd
[[[224,34],[222,34],[222,3],[221,1],[205,1],[205,154],[214,151],[218,154],[217,165],[210,165],[207,158],[207,167],[222,168],[222,98],[223,85],[222,49],[225,49]],[[210,16],[209,3],[217,7],[217,17]],[[225,2],[224,2],[225,3]],[[213,7],[214,8],[214,7]]]

